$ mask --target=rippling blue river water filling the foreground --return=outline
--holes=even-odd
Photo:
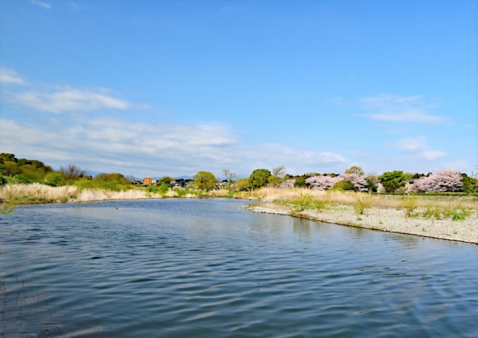
[[[0,337],[478,337],[478,247],[232,199],[0,216]]]

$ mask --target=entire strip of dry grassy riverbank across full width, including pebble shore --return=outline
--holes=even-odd
[[[273,206],[252,206],[250,210],[256,212],[478,243],[478,199],[473,196],[367,195],[307,188],[261,188],[236,193],[225,189],[209,192],[158,187],[108,190],[44,184],[6,184],[0,188],[0,200],[8,205],[207,196],[274,202]]]

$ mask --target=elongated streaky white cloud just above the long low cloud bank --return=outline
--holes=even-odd
[[[119,98],[103,94],[102,90],[85,91],[80,89],[62,89],[53,93],[42,91],[26,91],[11,94],[13,103],[26,105],[38,112],[90,112],[99,109],[126,110],[130,103]]]

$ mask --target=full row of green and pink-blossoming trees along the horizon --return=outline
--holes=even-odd
[[[132,181],[120,173],[100,173],[96,177],[87,176],[74,164],[60,166],[53,170],[51,166],[34,159],[17,159],[15,154],[0,154],[0,185],[6,183],[28,184],[39,182],[50,186],[62,186],[82,181],[82,184],[91,186],[101,184],[105,188],[128,188]],[[285,166],[278,166],[272,170],[260,168],[254,170],[249,177],[239,178],[236,172],[223,169],[223,181],[219,181],[212,172],[200,171],[188,181],[189,186],[200,190],[212,190],[214,188],[227,188],[229,191],[256,190],[264,186],[273,188],[312,188],[316,190],[354,190],[376,192],[379,186],[386,193],[403,192],[405,184],[410,184],[412,192],[478,192],[478,166],[471,175],[459,173],[456,170],[445,169],[438,172],[429,172],[426,175],[418,172],[403,172],[393,170],[378,175],[371,172],[365,175],[359,166],[351,166],[345,172],[336,174],[332,172],[319,174],[308,172],[303,175],[288,175]],[[170,188],[172,182],[179,181],[172,177],[162,177],[157,181],[157,186]]]

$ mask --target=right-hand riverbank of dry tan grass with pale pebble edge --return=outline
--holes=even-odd
[[[276,202],[250,211],[478,244],[476,197],[395,196],[261,189],[238,197]]]

